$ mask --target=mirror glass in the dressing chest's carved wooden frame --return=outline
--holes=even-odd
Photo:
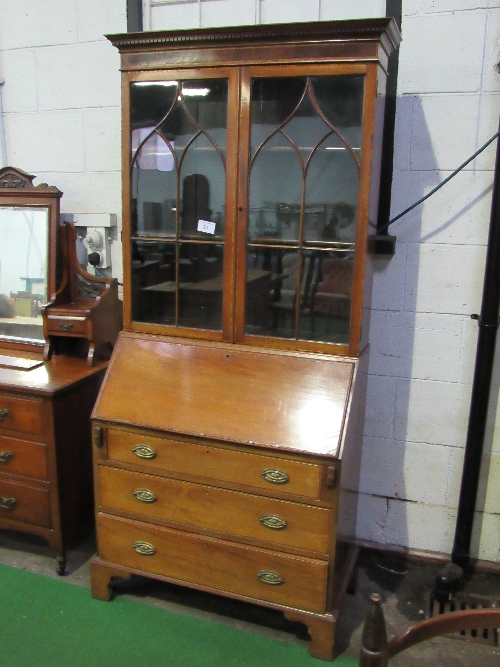
[[[0,207],[0,338],[43,341],[48,207]]]

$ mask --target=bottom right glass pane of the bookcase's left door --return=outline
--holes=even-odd
[[[180,245],[179,326],[222,329],[223,254],[222,245]]]

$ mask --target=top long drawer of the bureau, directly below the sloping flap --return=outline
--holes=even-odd
[[[148,458],[143,458],[144,455]],[[236,449],[195,445],[110,429],[108,458],[257,489],[320,497],[320,465],[249,454]]]

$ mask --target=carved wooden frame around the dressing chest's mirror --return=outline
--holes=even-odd
[[[0,169],[0,208],[3,206],[36,207],[48,210],[47,227],[47,297],[48,303],[56,293],[59,261],[59,212],[62,192],[55,186],[40,183],[33,185],[35,176],[27,174],[15,167]],[[0,336],[0,350],[2,348],[20,349],[25,351],[41,351],[45,340],[9,338]]]

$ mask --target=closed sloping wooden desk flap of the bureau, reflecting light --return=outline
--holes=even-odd
[[[336,457],[356,361],[122,332],[93,418]]]

